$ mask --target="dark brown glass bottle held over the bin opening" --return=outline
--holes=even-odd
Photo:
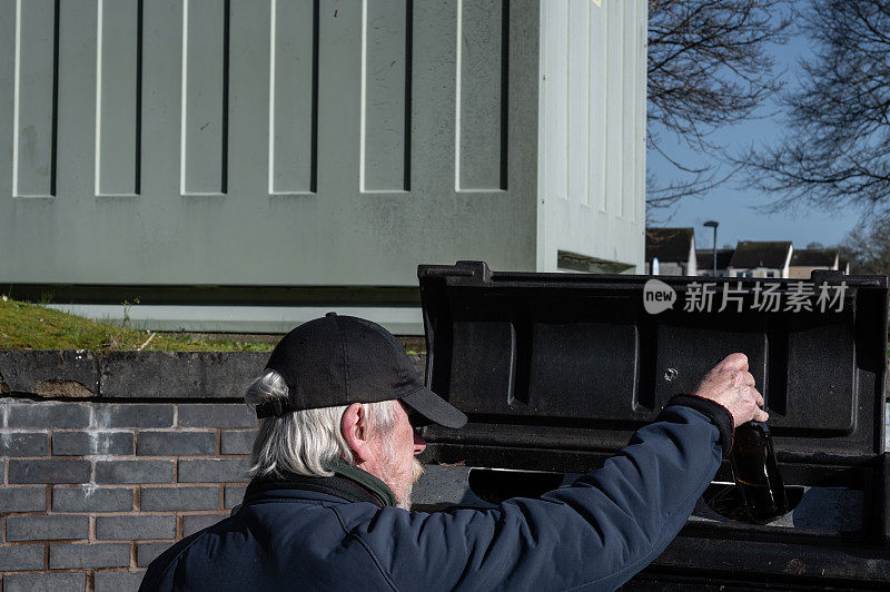
[[[765,423],[748,422],[735,428],[730,464],[751,522],[767,524],[788,513],[784,482]]]

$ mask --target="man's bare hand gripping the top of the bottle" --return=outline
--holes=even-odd
[[[693,395],[708,398],[725,407],[732,415],[732,425],[754,420],[765,422],[770,416],[760,408],[763,396],[754,388],[754,377],[748,372],[748,356],[730,354],[702,379]]]

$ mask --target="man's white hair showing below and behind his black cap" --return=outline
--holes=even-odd
[[[274,369],[254,381],[245,394],[245,403],[255,410],[266,401],[289,396],[284,377]],[[364,403],[370,430],[386,435],[395,425],[395,401]],[[280,417],[264,417],[254,442],[248,475],[254,477],[299,475],[330,476],[325,468],[333,458],[342,457],[355,464],[355,457],[340,432],[340,421],[348,405],[319,407],[285,413]]]

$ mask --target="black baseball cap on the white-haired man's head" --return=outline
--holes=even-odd
[[[260,403],[257,417],[397,398],[445,427],[466,424],[466,415],[424,386],[396,338],[364,318],[328,313],[304,323],[278,342],[266,368],[284,377],[290,396]]]

